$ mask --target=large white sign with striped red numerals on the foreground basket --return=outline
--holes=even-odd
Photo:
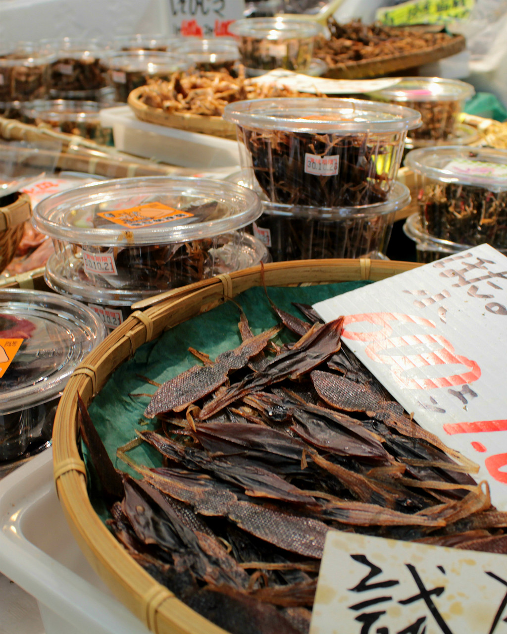
[[[480,245],[314,308],[345,315],[342,341],[507,510],[507,257]]]

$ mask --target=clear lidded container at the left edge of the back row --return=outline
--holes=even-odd
[[[43,99],[49,91],[49,69],[55,57],[31,42],[18,42],[0,53],[0,101]]]

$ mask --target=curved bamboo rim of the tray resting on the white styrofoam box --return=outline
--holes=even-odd
[[[162,108],[153,108],[139,101],[141,94],[143,94],[143,86],[134,89],[128,98],[129,106],[141,121],[236,140],[236,124],[225,121],[222,117],[195,115],[188,112],[165,112]]]

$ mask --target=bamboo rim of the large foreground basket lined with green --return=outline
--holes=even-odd
[[[307,260],[264,265],[267,286],[300,286],[384,278],[417,268],[413,262]],[[139,346],[193,316],[219,306],[248,288],[262,285],[262,268],[236,271],[157,295],[135,310],[74,371],[60,399],[53,430],[56,491],[75,539],[115,597],[157,634],[225,634],[183,604],[146,573],[108,531],[87,495],[86,467],[77,444],[77,393],[86,405],[113,370]]]

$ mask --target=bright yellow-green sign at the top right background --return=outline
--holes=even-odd
[[[388,26],[445,24],[466,20],[475,0],[411,0],[376,11],[375,20]]]

